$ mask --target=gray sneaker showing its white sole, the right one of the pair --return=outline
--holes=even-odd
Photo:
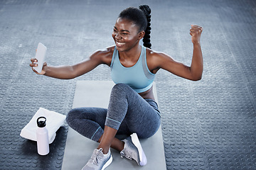
[[[122,140],[124,142],[124,149],[120,152],[121,157],[127,159],[134,159],[138,165],[146,165],[146,155],[142,149],[142,145],[139,143],[139,138],[136,133],[133,133],[127,139]]]

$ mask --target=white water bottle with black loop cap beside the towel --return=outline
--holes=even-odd
[[[38,154],[46,155],[50,152],[48,130],[46,129],[46,118],[39,117],[36,121],[38,128],[36,130],[36,141]]]

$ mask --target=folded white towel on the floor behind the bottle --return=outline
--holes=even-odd
[[[56,136],[56,131],[61,125],[65,123],[65,115],[56,113],[54,111],[48,111],[45,108],[39,108],[29,123],[21,130],[21,137],[28,140],[36,141],[36,129],[38,128],[36,120],[37,118],[44,116],[46,117],[46,128],[48,130],[49,144],[53,142]]]

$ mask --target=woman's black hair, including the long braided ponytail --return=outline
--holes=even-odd
[[[150,33],[151,33],[151,9],[147,5],[139,6],[139,8],[129,7],[124,9],[119,14],[119,18],[125,18],[132,21],[139,28],[139,32],[145,31],[143,38],[144,47],[151,48]]]

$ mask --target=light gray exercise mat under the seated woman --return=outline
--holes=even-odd
[[[112,81],[77,81],[73,108],[84,106],[107,108],[112,86],[114,86]],[[154,95],[157,100],[155,84]],[[148,159],[146,166],[138,166],[134,160],[122,159],[119,152],[111,149],[113,162],[107,169],[166,169],[161,128],[153,137],[140,141]],[[62,169],[82,169],[97,145],[97,142],[88,140],[69,128]]]

